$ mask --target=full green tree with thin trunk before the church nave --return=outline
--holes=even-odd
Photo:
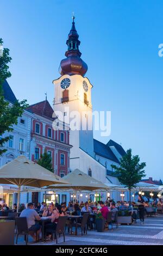
[[[138,155],[132,156],[131,149],[127,150],[127,154],[120,159],[120,167],[111,165],[115,169],[117,178],[121,184],[128,187],[130,192],[130,201],[131,201],[131,189],[135,187],[135,184],[139,182],[143,177],[145,177],[146,163],[140,162]]]

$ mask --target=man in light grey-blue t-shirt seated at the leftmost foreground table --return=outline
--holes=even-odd
[[[39,214],[34,210],[34,204],[33,203],[28,203],[27,209],[22,210],[20,217],[26,217],[27,218],[27,225],[28,225],[28,230],[32,231],[30,234],[34,240],[36,240],[36,231],[37,235],[39,236],[41,232],[41,225],[38,223],[35,223],[35,221],[40,221],[41,218]]]

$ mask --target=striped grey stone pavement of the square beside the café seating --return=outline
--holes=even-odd
[[[18,244],[23,245],[23,237],[20,236]],[[55,241],[46,241],[44,243],[34,243],[29,238],[30,245],[55,245]],[[81,235],[80,229],[78,236],[66,233],[66,242],[63,237],[58,239],[58,245],[163,245],[163,215],[148,217],[145,223],[131,225],[119,225],[116,229],[105,230],[99,233],[95,230],[87,231],[87,235]]]

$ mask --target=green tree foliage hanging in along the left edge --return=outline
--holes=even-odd
[[[3,40],[0,39],[0,46]],[[2,85],[4,80],[11,76],[8,63],[11,62],[9,49],[4,48],[0,55],[0,156],[7,151],[3,148],[3,144],[8,142],[9,137],[2,138],[5,131],[12,131],[12,125],[17,124],[17,118],[21,117],[23,110],[28,107],[27,100],[16,101],[13,105],[5,101],[3,96]]]

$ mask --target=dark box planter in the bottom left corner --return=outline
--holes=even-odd
[[[0,245],[14,245],[15,221],[0,222]]]

